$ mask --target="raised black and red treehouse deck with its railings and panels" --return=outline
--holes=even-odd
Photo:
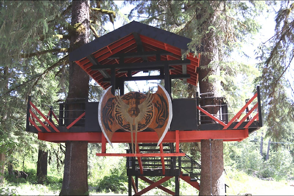
[[[213,105],[219,108],[219,118],[205,110],[207,105],[197,105],[203,100],[215,99],[222,100],[216,97],[172,100],[173,117],[170,129],[162,142],[199,142],[202,139],[242,141],[251,132],[262,126],[262,121],[259,120],[261,119],[259,87],[254,96],[230,121],[228,121],[228,113],[225,113],[228,111],[228,105],[222,101],[219,106]],[[33,100],[29,100],[26,131],[37,133],[38,138],[44,141],[71,140],[104,143],[105,138],[98,123],[99,102],[81,103],[79,101],[78,103],[84,104],[85,110],[80,111],[81,115],[78,118],[70,121],[67,119],[66,103],[59,104],[60,110],[57,117],[53,110],[46,112],[47,115],[43,114],[33,104]],[[249,109],[252,104],[254,104],[253,107]],[[212,106],[209,105],[209,107]],[[210,119],[211,123],[207,123],[207,119]],[[202,121],[205,121],[205,124],[202,124]],[[113,135],[112,142],[130,143],[130,138],[130,132],[118,130]],[[156,132],[148,128],[138,132],[138,143],[157,143],[157,141]]]

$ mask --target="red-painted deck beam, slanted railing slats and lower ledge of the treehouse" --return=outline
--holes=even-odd
[[[179,153],[179,143],[181,142],[199,142],[202,139],[222,139],[224,141],[242,141],[247,138],[249,135],[249,126],[254,122],[258,121],[260,117],[260,111],[257,109],[258,104],[260,104],[260,100],[256,101],[256,104],[248,111],[245,110],[249,107],[249,105],[258,97],[258,92],[254,94],[254,96],[237,112],[237,114],[226,124],[219,119],[217,119],[214,115],[205,111],[202,107],[197,106],[197,109],[203,112],[205,115],[209,116],[216,123],[219,123],[223,126],[221,130],[176,130],[176,131],[168,131],[165,135],[162,143],[175,143],[176,144],[176,153]],[[32,108],[35,111],[32,111]],[[242,114],[246,113],[242,116]],[[247,121],[247,118],[251,116],[255,112],[253,118]],[[45,116],[42,112],[32,103],[31,100],[28,101],[28,116],[27,120],[31,126],[33,126],[38,133],[38,138],[44,141],[51,142],[65,142],[65,141],[88,141],[94,143],[102,144],[102,152],[97,153],[97,156],[134,156],[132,153],[126,154],[116,154],[116,153],[106,153],[106,139],[102,132],[70,132],[71,127],[74,126],[82,117],[85,116],[85,112],[83,112],[77,119],[75,119],[72,123],[66,126],[66,131],[64,127],[55,125],[55,123],[48,118],[50,114],[54,116],[56,122],[58,123],[58,118],[55,115],[53,110],[50,110],[48,115]],[[39,115],[39,116],[38,116]],[[240,119],[242,116],[242,119]],[[240,120],[239,120],[240,119]],[[39,125],[37,125],[37,123]],[[46,122],[46,123],[45,123]],[[228,128],[234,123],[233,128]],[[244,126],[244,123],[246,125]],[[49,126],[48,126],[49,125]],[[240,128],[240,125],[243,125]],[[29,129],[29,124],[27,124],[27,130]],[[44,131],[41,130],[43,127]],[[58,130],[62,128],[62,130]],[[138,132],[137,136],[138,143],[157,143],[157,135],[156,132]],[[115,132],[112,137],[113,143],[130,143],[130,132]],[[137,148],[138,149],[138,148]],[[182,154],[176,154],[173,156],[181,156]],[[136,153],[136,156],[140,157],[140,153]],[[144,154],[144,156],[171,156],[170,153],[159,153],[159,154]]]

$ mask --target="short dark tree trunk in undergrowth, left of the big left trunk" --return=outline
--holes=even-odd
[[[47,177],[47,159],[48,153],[41,150],[39,147],[37,162],[37,178],[39,184],[43,184]]]

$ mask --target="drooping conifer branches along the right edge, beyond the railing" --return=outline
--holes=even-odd
[[[262,75],[255,80],[261,84],[265,120],[270,132],[268,137],[279,141],[289,134],[285,123],[294,119],[294,2],[273,1],[275,17],[275,34],[260,46],[259,68]],[[277,11],[276,11],[277,10]]]

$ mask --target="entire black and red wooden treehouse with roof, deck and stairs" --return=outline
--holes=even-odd
[[[200,56],[188,54],[183,58],[190,41],[133,21],[83,45],[70,53],[70,61],[106,90],[100,102],[66,100],[59,104],[58,115],[52,106],[44,115],[29,98],[26,130],[44,141],[101,143],[102,152],[96,156],[125,156],[129,195],[132,191],[142,195],[155,187],[179,195],[179,179],[199,190],[201,165],[182,152],[179,143],[202,139],[242,141],[262,126],[262,116],[259,87],[232,119],[228,119],[228,105],[222,97],[172,99],[172,79],[198,83]],[[150,70],[160,74],[134,76]],[[124,95],[125,81],[159,79],[164,80],[164,87],[159,85],[154,94]],[[115,95],[116,89],[119,95]],[[70,104],[81,105],[78,118],[69,118]],[[211,107],[217,115],[207,111]],[[106,143],[128,143],[130,150],[107,153]],[[153,182],[148,176],[162,179]],[[173,177],[174,191],[161,185]],[[150,186],[138,190],[138,178]]]

